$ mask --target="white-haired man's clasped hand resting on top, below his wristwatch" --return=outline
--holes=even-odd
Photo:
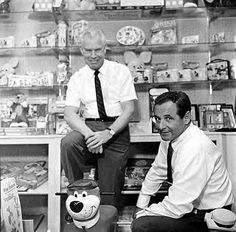
[[[86,137],[86,145],[89,151],[93,151],[94,149],[100,147],[102,144],[106,143],[109,139],[111,139],[112,135],[108,130],[96,131],[93,134]]]

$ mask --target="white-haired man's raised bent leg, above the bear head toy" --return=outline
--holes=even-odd
[[[61,140],[61,164],[69,183],[83,178],[83,171],[89,159],[84,137],[72,131]]]

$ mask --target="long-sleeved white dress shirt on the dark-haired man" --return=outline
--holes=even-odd
[[[144,209],[137,216],[163,215],[180,218],[196,209],[214,209],[233,203],[232,184],[223,156],[216,145],[192,123],[172,142],[173,184],[162,202],[148,207],[150,195],[167,178],[168,141],[161,141],[137,201]]]

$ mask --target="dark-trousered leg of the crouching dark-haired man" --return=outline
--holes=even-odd
[[[204,220],[192,216],[174,219],[165,216],[144,216],[135,219],[132,232],[208,232]]]

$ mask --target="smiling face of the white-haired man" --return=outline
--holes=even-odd
[[[98,38],[87,39],[81,48],[85,63],[93,70],[99,69],[104,62],[106,48]]]

